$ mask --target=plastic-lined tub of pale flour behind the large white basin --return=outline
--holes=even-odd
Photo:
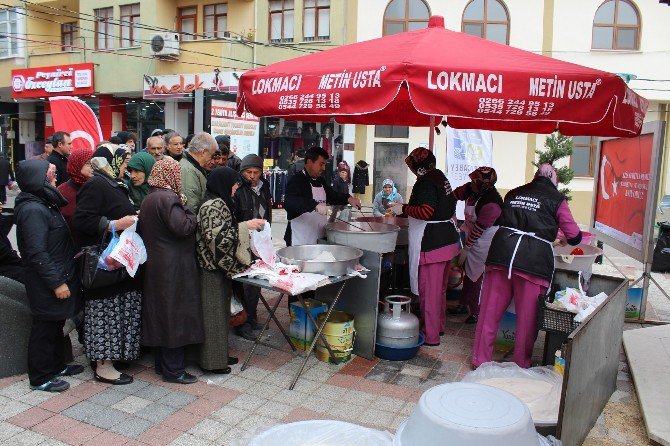
[[[553,367],[522,369],[513,362],[486,362],[461,382],[485,384],[505,390],[523,401],[536,424],[556,424],[563,377]]]

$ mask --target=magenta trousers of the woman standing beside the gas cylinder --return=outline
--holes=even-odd
[[[429,344],[440,343],[440,332],[447,320],[447,284],[449,262],[419,265],[419,305],[424,334]]]

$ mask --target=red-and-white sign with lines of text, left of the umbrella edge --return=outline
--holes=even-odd
[[[240,158],[249,154],[258,155],[258,132],[260,119],[251,113],[237,116],[234,102],[212,100],[210,133],[230,136],[230,150]]]

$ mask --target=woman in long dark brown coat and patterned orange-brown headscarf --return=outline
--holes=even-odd
[[[142,344],[155,348],[155,370],[163,381],[192,384],[198,379],[186,372],[185,347],[204,339],[196,216],[185,205],[177,161],[156,162],[148,183],[149,195],[140,207],[140,235],[147,249]]]

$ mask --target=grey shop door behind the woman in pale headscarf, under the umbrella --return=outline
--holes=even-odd
[[[390,178],[396,185],[398,192],[406,202],[407,196],[407,149],[409,144],[377,142],[375,143],[375,159],[372,184],[374,186],[373,196],[382,189],[382,183]]]

